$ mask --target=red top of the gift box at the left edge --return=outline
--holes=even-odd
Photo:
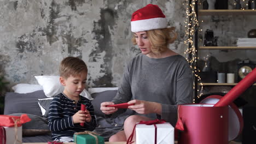
[[[0,126],[2,127],[14,127],[15,122],[20,127],[23,123],[30,121],[31,119],[26,114],[21,116],[0,115]]]

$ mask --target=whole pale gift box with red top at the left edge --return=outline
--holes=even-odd
[[[31,119],[26,114],[21,116],[0,115],[0,126],[1,126],[0,144],[22,143],[22,124],[29,121],[31,121]]]

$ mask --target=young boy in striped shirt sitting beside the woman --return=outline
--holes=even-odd
[[[49,107],[49,128],[53,140],[72,142],[75,132],[94,130],[96,119],[89,99],[80,95],[85,88],[88,69],[82,59],[66,57],[60,65],[60,83],[64,91],[56,95]],[[80,110],[85,104],[85,111]],[[80,126],[84,123],[84,126]]]

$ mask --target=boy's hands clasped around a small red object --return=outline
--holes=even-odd
[[[91,121],[91,115],[88,110],[85,109],[85,111],[78,111],[73,115],[73,122],[74,123],[85,123]]]

